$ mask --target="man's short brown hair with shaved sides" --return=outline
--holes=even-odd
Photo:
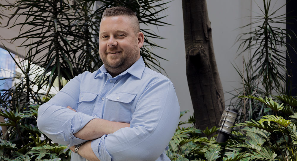
[[[128,17],[130,17],[130,19],[133,23],[133,26],[135,28],[135,33],[140,32],[139,20],[138,20],[136,14],[131,9],[129,9],[127,7],[123,7],[123,6],[115,6],[115,7],[106,8],[102,14],[102,18],[112,17],[112,16],[128,16]]]

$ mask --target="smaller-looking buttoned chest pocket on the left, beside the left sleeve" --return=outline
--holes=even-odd
[[[80,92],[78,100],[78,109],[76,111],[90,115],[90,113],[92,113],[94,110],[97,95],[98,94],[90,92]]]

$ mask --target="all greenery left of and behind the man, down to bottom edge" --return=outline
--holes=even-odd
[[[0,123],[0,160],[70,160],[71,151],[67,146],[52,142],[37,128],[38,107],[52,97],[53,90],[61,89],[75,75],[101,66],[98,32],[106,7],[127,6],[136,13],[140,23],[160,26],[169,25],[158,16],[167,8],[166,4],[159,0],[1,3],[1,27],[20,27],[18,36],[11,42],[22,39],[22,44],[15,45],[25,47],[27,53],[23,59],[17,59],[6,49],[20,72],[3,79],[13,80],[13,87],[0,89],[0,117],[5,118],[5,122]],[[140,30],[146,35],[141,56],[147,66],[162,70],[160,57],[151,51],[160,46],[149,40],[162,37],[145,28]],[[53,88],[56,82],[58,89]]]

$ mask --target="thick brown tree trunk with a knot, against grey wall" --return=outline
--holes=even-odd
[[[225,108],[222,83],[212,44],[206,0],[183,0],[184,39],[195,127],[218,126]]]

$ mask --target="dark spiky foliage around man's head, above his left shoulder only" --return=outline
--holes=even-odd
[[[162,22],[164,17],[158,17],[158,13],[167,8],[166,4],[158,0],[18,0],[4,5],[7,9],[1,7],[3,12],[12,14],[7,25],[2,27],[7,27],[10,21],[13,21],[10,28],[20,27],[19,35],[12,38],[11,42],[21,39],[23,43],[19,46],[28,50],[26,59],[44,68],[38,78],[38,90],[44,86],[52,87],[52,80],[55,79],[61,89],[62,78],[69,81],[83,71],[93,72],[102,65],[98,53],[98,36],[105,8],[128,6],[136,13],[140,24],[163,26],[169,24]],[[141,56],[147,66],[162,70],[158,61],[161,57],[151,51],[160,46],[149,40],[162,37],[148,29],[141,31],[145,34]]]

